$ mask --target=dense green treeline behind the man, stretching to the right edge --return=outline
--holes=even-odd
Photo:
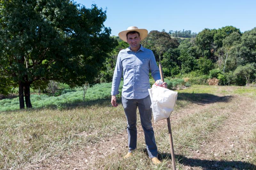
[[[162,63],[164,76],[187,77],[196,84],[206,84],[211,78],[219,85],[255,84],[256,27],[244,33],[234,26],[206,28],[183,40],[171,38],[164,30],[151,31],[141,44]],[[101,70],[101,82],[112,81],[118,52],[126,47],[128,44],[120,41],[110,53]]]

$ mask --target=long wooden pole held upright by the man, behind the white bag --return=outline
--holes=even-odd
[[[163,76],[163,70],[162,70],[161,63],[159,63],[159,71],[160,71],[161,80],[164,82],[164,76]],[[174,155],[174,149],[173,149],[173,143],[172,143],[172,129],[171,129],[170,117],[167,118],[167,126],[168,126],[169,141],[170,141],[170,146],[171,146],[172,169],[176,170],[175,155]]]

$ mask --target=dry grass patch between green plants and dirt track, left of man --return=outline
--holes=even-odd
[[[0,169],[61,155],[86,143],[116,135],[125,128],[121,107],[71,110],[31,109],[0,115]],[[100,133],[97,133],[100,131]]]

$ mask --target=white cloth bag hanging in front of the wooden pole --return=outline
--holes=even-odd
[[[168,118],[174,108],[178,92],[153,85],[148,89],[155,122]]]

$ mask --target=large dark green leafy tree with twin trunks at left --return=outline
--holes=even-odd
[[[91,83],[114,47],[106,11],[69,0],[0,2],[0,75],[19,85],[20,108],[32,107],[30,86],[55,80]],[[7,85],[7,84],[6,84]]]

